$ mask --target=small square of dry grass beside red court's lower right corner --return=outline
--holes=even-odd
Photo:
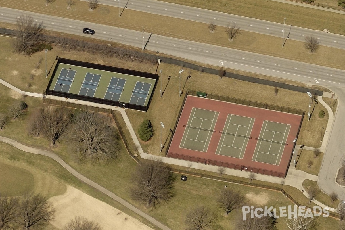
[[[302,170],[310,174],[318,175],[320,171],[320,167],[322,164],[322,159],[324,153],[322,152],[317,158],[315,158],[314,151],[307,150],[307,149],[299,149],[297,157],[297,164],[296,169]],[[310,168],[308,168],[308,161],[312,160],[313,164]]]

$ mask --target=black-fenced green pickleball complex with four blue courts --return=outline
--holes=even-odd
[[[46,93],[147,111],[158,75],[58,58]]]

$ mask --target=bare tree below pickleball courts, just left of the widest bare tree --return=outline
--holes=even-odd
[[[65,107],[46,106],[41,117],[43,133],[53,146],[67,133],[71,124],[71,111]]]

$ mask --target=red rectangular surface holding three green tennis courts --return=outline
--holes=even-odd
[[[302,119],[188,95],[167,157],[285,178]]]

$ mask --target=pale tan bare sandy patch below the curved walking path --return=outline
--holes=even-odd
[[[71,219],[82,216],[99,223],[103,230],[152,230],[145,224],[120,210],[93,198],[74,187],[68,186],[63,195],[49,199],[56,209],[51,224],[58,229]]]

